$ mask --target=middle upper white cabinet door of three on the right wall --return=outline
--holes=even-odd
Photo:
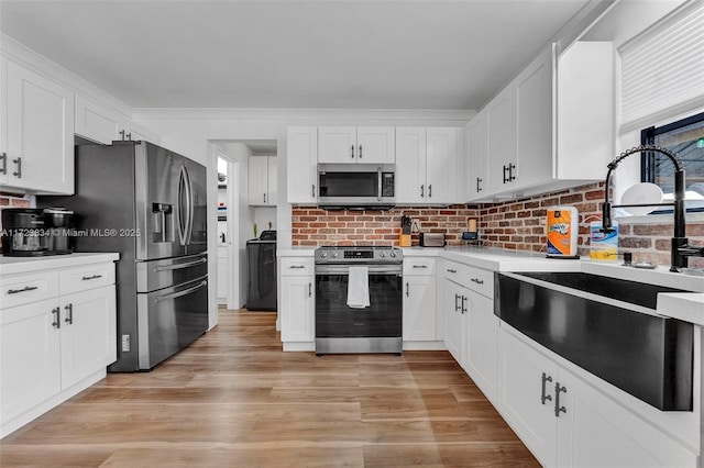
[[[485,110],[486,116],[486,160],[488,193],[512,189],[509,166],[516,174],[517,119],[516,88],[508,86],[492,100]],[[487,193],[487,194],[488,194]]]

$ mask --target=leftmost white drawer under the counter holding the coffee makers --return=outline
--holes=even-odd
[[[0,277],[2,309],[58,297],[58,271],[42,271]]]

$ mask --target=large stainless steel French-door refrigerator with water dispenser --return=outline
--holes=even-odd
[[[206,168],[146,142],[76,146],[76,252],[119,252],[118,360],[148,370],[208,327]]]

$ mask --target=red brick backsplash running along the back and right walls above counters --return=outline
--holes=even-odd
[[[578,250],[590,255],[590,223],[602,219],[604,183],[546,193],[502,203],[454,204],[448,208],[396,208],[389,211],[324,211],[294,207],[293,245],[398,245],[400,216],[419,221],[422,232],[444,232],[448,245],[462,245],[468,220],[479,220],[482,244],[516,250],[544,252],[547,209],[568,204],[578,209],[580,227]],[[688,221],[692,245],[704,246],[704,222]],[[635,224],[619,220],[618,244],[631,252],[635,261],[670,265],[672,223]],[[413,245],[418,245],[414,235]],[[704,268],[704,258],[690,258],[690,266]]]

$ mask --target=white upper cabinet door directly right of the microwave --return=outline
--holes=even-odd
[[[396,203],[426,201],[426,127],[396,129]]]

